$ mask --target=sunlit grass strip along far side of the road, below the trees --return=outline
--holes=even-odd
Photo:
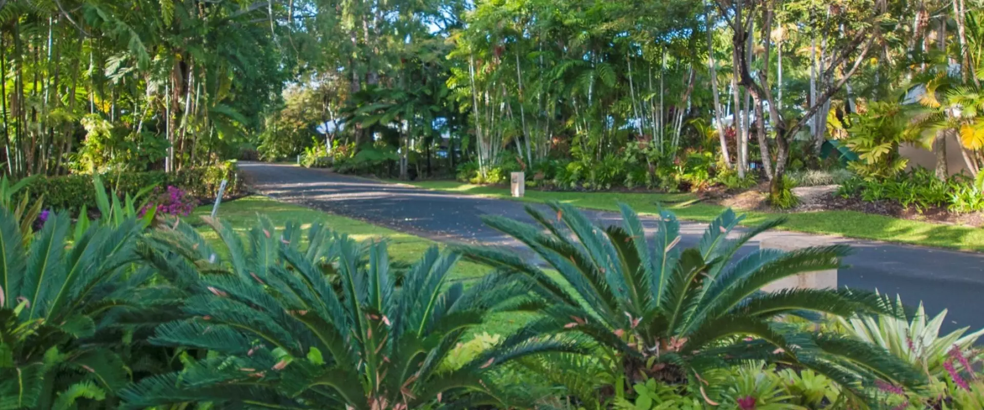
[[[584,208],[618,210],[618,203],[631,205],[641,213],[655,213],[656,203],[669,207],[681,219],[709,221],[724,206],[690,204],[692,194],[629,194],[543,192],[526,190],[525,197],[514,199],[506,188],[463,184],[455,181],[420,181],[408,184],[431,190],[449,191],[490,198],[519,200],[530,203],[559,201]],[[984,229],[942,225],[889,216],[872,215],[851,210],[826,210],[801,213],[769,213],[748,211],[746,224],[756,224],[769,218],[785,216],[780,228],[793,231],[840,235],[850,238],[875,239],[913,245],[953,248],[964,251],[984,251]]]

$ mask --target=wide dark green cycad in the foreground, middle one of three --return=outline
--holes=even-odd
[[[360,246],[316,223],[305,247],[298,225],[277,232],[265,219],[244,240],[228,225],[210,222],[228,264],[180,224],[161,243],[185,258],[153,261],[172,280],[209,272],[187,286],[192,296],[182,309],[192,319],[162,324],[152,339],[203,354],[182,372],[127,389],[127,408],[211,402],[219,408],[413,409],[463,395],[481,403],[492,400],[484,394],[484,372],[535,352],[573,350],[561,339],[507,337],[442,373],[439,365],[463,332],[527,293],[528,282],[492,273],[464,289],[448,277],[458,257],[431,248],[398,286],[385,243]]]

